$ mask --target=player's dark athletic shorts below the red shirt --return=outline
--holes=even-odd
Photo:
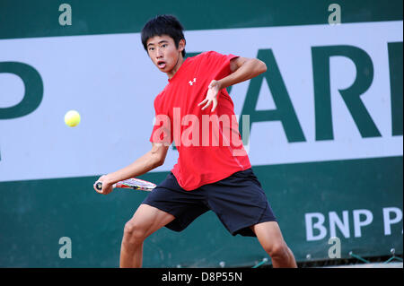
[[[186,229],[189,223],[209,210],[216,213],[233,236],[241,234],[255,237],[250,226],[264,221],[277,221],[252,169],[236,172],[228,178],[199,186],[192,191],[181,188],[170,172],[142,204],[171,213],[175,219],[166,227],[175,231]]]

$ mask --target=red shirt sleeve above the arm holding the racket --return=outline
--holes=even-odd
[[[170,146],[172,143],[171,138],[171,120],[170,117],[162,112],[159,103],[154,100],[154,126],[149,141],[151,143],[162,143],[165,146]]]

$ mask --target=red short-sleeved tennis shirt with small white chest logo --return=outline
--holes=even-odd
[[[251,168],[227,91],[219,92],[214,112],[212,105],[205,110],[198,106],[212,80],[231,74],[234,57],[210,51],[187,58],[154,100],[150,142],[170,145],[174,141],[179,159],[171,172],[187,191]]]

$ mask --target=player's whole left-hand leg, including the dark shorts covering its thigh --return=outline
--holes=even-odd
[[[170,172],[153,192],[145,197],[127,221],[121,245],[120,266],[141,267],[143,242],[154,231],[167,227],[181,231],[208,209],[201,191],[185,191]]]

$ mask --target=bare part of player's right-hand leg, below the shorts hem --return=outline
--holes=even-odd
[[[273,267],[297,267],[294,254],[287,247],[277,221],[265,221],[250,227],[272,259]]]

